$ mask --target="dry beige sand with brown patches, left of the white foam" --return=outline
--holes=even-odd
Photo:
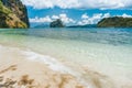
[[[53,70],[44,63],[26,59],[20,50],[0,46],[0,54],[1,87],[86,88],[70,74]]]

